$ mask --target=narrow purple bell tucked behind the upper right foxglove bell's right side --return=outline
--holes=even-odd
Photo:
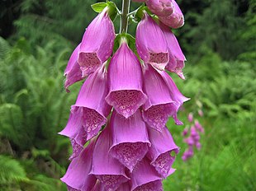
[[[166,69],[170,72],[175,72],[180,78],[185,79],[183,75],[183,68],[185,67],[186,58],[183,54],[182,49],[178,44],[178,40],[167,26],[161,25],[165,39],[168,43],[169,51],[169,62],[166,66]]]

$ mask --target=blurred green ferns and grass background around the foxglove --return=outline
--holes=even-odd
[[[64,128],[82,82],[64,91],[64,68],[97,13],[86,0],[0,2],[0,190],[65,190]],[[100,1],[98,1],[100,2]],[[121,7],[121,0],[114,0]],[[256,1],[178,1],[185,26],[175,30],[187,57],[192,99],[168,122],[181,152],[164,190],[256,190]],[[139,7],[132,3],[131,9]],[[118,27],[118,19],[116,26]],[[118,30],[116,30],[118,31]],[[135,34],[131,24],[130,33]],[[187,162],[181,133],[201,101],[201,151]]]

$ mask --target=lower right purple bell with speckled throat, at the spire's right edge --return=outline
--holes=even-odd
[[[166,179],[168,175],[173,174],[171,167],[175,156],[172,156],[172,151],[178,154],[179,147],[173,142],[173,137],[166,127],[161,133],[149,128],[149,140],[152,146],[149,147],[147,156],[151,161],[151,165],[159,172],[159,175]]]

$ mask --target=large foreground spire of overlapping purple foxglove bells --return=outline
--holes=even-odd
[[[175,4],[170,12],[176,12]],[[189,99],[164,69],[184,78],[186,58],[161,21],[144,12],[136,31],[140,58],[126,36],[112,54],[116,35],[105,7],[74,49],[64,72],[65,88],[87,79],[59,133],[69,137],[73,147],[69,169],[61,178],[68,190],[159,191],[162,180],[174,172],[179,147],[166,123],[173,117],[183,124],[177,113]]]

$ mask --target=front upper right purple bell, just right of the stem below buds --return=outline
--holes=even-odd
[[[147,13],[144,13],[143,19],[137,26],[136,48],[145,63],[160,70],[164,70],[168,64],[168,46],[164,33]]]

